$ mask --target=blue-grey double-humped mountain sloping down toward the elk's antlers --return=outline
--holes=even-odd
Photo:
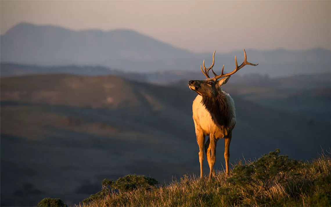
[[[28,23],[1,36],[1,53],[2,61],[37,65],[107,65],[120,59],[150,61],[192,55],[129,29],[73,31]]]

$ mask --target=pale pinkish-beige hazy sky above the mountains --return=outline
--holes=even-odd
[[[130,28],[195,52],[331,49],[331,1],[0,1],[1,34],[20,23]]]

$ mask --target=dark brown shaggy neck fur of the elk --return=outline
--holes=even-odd
[[[214,96],[202,96],[202,104],[211,114],[216,125],[227,126],[229,124],[229,106],[226,101],[226,95],[224,95],[222,90],[217,91]]]

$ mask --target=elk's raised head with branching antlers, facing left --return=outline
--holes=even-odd
[[[197,92],[199,95],[201,96],[207,96],[207,97],[213,97],[217,94],[218,89],[220,86],[224,85],[225,83],[227,83],[227,81],[230,79],[232,74],[235,74],[237,71],[239,71],[241,68],[243,68],[245,65],[252,65],[252,66],[257,66],[259,64],[253,64],[253,63],[249,63],[247,62],[247,56],[246,56],[246,51],[244,50],[244,62],[242,64],[240,64],[238,66],[237,63],[237,56],[235,56],[235,61],[236,61],[236,68],[230,72],[230,73],[226,73],[224,74],[224,65],[222,68],[222,72],[220,75],[217,75],[214,71],[213,71],[213,66],[215,63],[215,52],[213,54],[213,64],[211,65],[211,67],[206,68],[205,66],[205,60],[203,62],[203,67],[204,69],[202,69],[201,66],[201,71],[202,73],[207,77],[206,80],[190,80],[189,81],[189,88],[191,90],[194,90],[195,92]],[[210,78],[209,77],[209,71],[212,70],[213,74],[214,74],[214,78]],[[218,80],[219,78],[222,78],[220,80]]]

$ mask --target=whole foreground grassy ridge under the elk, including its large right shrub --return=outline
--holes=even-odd
[[[279,152],[239,162],[229,176],[219,171],[211,181],[184,176],[169,185],[122,191],[103,185],[102,196],[79,206],[331,206],[330,154],[304,163]]]

